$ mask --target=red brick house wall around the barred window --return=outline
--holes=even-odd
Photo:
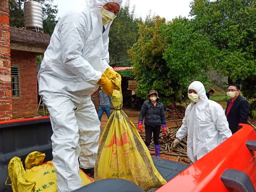
[[[37,114],[37,59],[29,52],[11,50],[11,64],[20,72],[20,97],[12,98],[13,118]]]

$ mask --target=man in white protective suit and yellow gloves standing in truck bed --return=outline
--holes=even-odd
[[[108,33],[122,0],[87,0],[80,12],[57,23],[38,73],[39,94],[52,123],[53,165],[58,192],[82,187],[80,168],[94,172],[100,121],[91,94],[99,86],[112,95],[118,88],[107,79],[121,76],[109,64]]]

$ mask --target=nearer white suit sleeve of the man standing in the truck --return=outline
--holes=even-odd
[[[71,15],[72,16],[72,15]],[[76,18],[74,18],[76,19]],[[60,47],[64,66],[72,73],[77,75],[85,82],[97,84],[102,72],[96,71],[89,62],[82,58],[82,49],[84,48],[84,31],[87,23],[84,19],[81,21],[64,23],[60,30]]]

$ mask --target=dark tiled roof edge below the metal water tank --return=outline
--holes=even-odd
[[[38,33],[21,28],[10,27],[11,41],[19,41],[24,43],[41,44],[48,46],[50,36],[46,33]]]

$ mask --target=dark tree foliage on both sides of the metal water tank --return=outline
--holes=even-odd
[[[15,27],[25,27],[23,3],[27,0],[9,0],[10,5],[10,24]],[[57,23],[56,15],[58,9],[52,5],[53,0],[34,0],[43,5],[43,27],[44,33],[52,35]]]

